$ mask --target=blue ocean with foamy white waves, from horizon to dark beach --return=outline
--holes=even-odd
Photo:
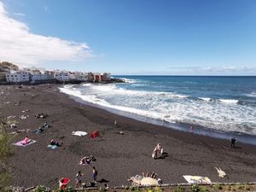
[[[97,108],[180,131],[256,143],[256,77],[114,76],[119,84],[67,84]]]

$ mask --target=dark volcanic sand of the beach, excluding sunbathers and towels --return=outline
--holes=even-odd
[[[14,142],[18,142],[27,135],[37,141],[25,148],[14,146],[15,154],[9,158],[9,165],[15,186],[44,184],[55,188],[60,177],[70,177],[74,185],[78,171],[84,173],[84,182],[89,183],[92,166],[98,171],[97,180],[106,179],[109,186],[127,185],[128,177],[142,172],[156,172],[164,183],[186,183],[183,175],[206,176],[212,182],[253,182],[256,179],[253,145],[238,143],[240,148],[230,148],[229,141],[149,125],[85,106],[60,93],[55,84],[22,89],[9,86],[9,90],[8,86],[0,86],[0,89],[4,92],[0,95],[1,117],[29,114],[27,119],[15,118],[19,122],[18,129],[34,130],[44,121],[53,125],[42,134],[22,132],[14,138]],[[8,101],[9,104],[3,104]],[[18,101],[20,106],[15,107]],[[31,111],[21,113],[26,109]],[[47,113],[49,117],[36,119],[35,113]],[[117,127],[113,125],[114,120],[117,120]],[[100,131],[102,138],[93,140],[71,135],[72,131],[95,130]],[[120,135],[119,131],[125,134]],[[47,148],[51,138],[62,142],[63,146],[55,150]],[[157,143],[169,154],[165,159],[151,158]],[[94,155],[96,162],[79,166],[79,160],[88,154]],[[214,166],[221,167],[230,178],[218,177]],[[102,184],[97,183],[97,186]]]

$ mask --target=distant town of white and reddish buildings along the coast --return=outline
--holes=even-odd
[[[123,83],[122,79],[113,79],[110,73],[70,72],[66,70],[44,70],[43,68],[22,68],[13,63],[0,62],[0,82],[13,83]]]

